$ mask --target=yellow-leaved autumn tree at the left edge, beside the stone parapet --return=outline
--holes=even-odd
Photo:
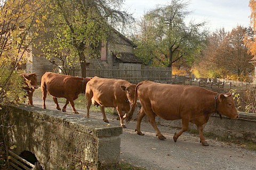
[[[22,99],[17,67],[26,61],[31,43],[41,28],[41,1],[0,1],[0,109]],[[26,55],[25,55],[26,54]]]

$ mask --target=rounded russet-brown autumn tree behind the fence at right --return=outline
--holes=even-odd
[[[202,77],[245,80],[253,70],[249,63],[252,56],[243,43],[245,35],[250,35],[250,32],[251,28],[239,25],[231,32],[224,29],[213,32],[194,69]]]

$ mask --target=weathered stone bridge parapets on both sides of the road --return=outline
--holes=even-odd
[[[27,105],[8,106],[1,113],[6,116],[3,125],[11,151],[26,159],[33,157],[30,162],[38,162],[44,170],[115,169],[119,165],[119,135],[123,132],[120,126]],[[239,114],[238,120],[212,115],[204,131],[256,142],[255,114]],[[180,120],[165,121],[157,117],[156,122],[181,126]],[[196,126],[191,124],[190,129],[196,130]]]

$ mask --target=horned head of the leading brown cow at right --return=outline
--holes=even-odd
[[[234,99],[230,92],[226,94],[220,94],[217,98],[217,110],[220,114],[228,116],[233,119],[239,118],[239,114],[236,111]]]

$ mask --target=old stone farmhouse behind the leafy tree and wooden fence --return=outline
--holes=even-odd
[[[127,67],[140,69],[142,61],[134,55],[135,47],[136,45],[131,40],[114,30],[114,33],[108,37],[107,42],[101,43],[101,55],[98,58],[86,61],[87,67],[88,69],[127,69]],[[32,50],[34,50],[34,53],[28,55],[25,69],[27,72],[37,73],[38,82],[41,81],[42,75],[47,71],[60,72],[58,67],[55,66],[55,61],[32,55],[36,54],[37,49],[33,48]],[[61,64],[59,65],[61,66]]]

